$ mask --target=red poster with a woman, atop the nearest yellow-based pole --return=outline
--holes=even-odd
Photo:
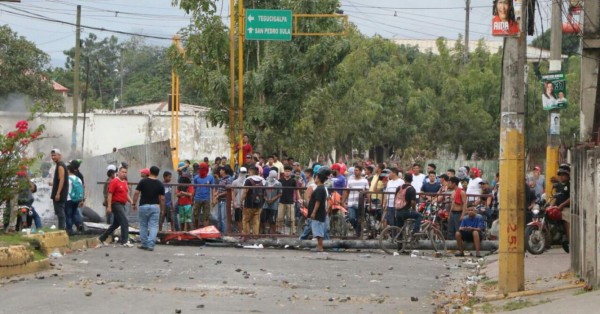
[[[492,35],[519,36],[521,33],[522,0],[494,0]]]

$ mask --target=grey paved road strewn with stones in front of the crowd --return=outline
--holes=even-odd
[[[430,293],[449,284],[453,261],[158,246],[52,262],[52,270],[0,280],[0,313],[432,313]]]

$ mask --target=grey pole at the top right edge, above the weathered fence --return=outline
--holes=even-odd
[[[581,141],[600,138],[600,2],[584,2],[581,58]]]

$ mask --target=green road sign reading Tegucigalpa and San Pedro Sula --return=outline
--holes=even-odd
[[[246,40],[292,40],[291,10],[247,9]]]

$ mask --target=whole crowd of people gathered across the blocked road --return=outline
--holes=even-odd
[[[374,211],[384,227],[402,226],[406,219],[414,219],[414,232],[418,232],[422,214],[416,210],[417,205],[434,203],[448,212],[447,238],[456,239],[459,247],[463,240],[476,242],[478,254],[482,233],[498,218],[498,173],[488,182],[475,167],[447,169],[440,174],[435,164],[428,164],[423,173],[420,164],[413,164],[404,171],[394,162],[374,164],[366,160],[348,165],[343,158],[333,163],[322,157],[302,167],[294,158],[280,160],[276,154],[263,157],[253,154],[251,146],[247,146],[245,141],[247,154],[239,167],[231,167],[225,156],[217,157],[212,163],[208,158],[199,163],[180,162],[176,183],[172,182],[174,174],[169,171],[163,171],[161,181],[158,167],[141,169],[142,179],[133,196],[127,182],[127,164],[118,168],[109,165],[103,205],[110,227],[99,237],[101,245],[121,227],[119,243],[132,246],[127,203],[138,212],[140,248],[150,251],[166,222],[171,231],[214,225],[224,234],[287,234],[301,239],[312,234],[322,240],[330,236],[333,215],[343,216],[354,236],[360,237],[364,227],[362,218],[367,210]],[[50,197],[58,228],[71,234],[83,228],[80,208],[85,203],[85,181],[79,172],[81,161],[65,164],[59,149],[53,149],[51,157],[55,167]],[[561,210],[569,207],[569,171],[568,166],[561,166],[553,193],[556,206]],[[24,179],[30,182],[28,177]],[[526,205],[530,209],[544,194],[545,178],[541,168],[534,167],[526,181]],[[231,207],[228,208],[229,191]],[[26,185],[19,202],[31,205],[33,192],[35,185]],[[31,215],[28,224],[32,225],[33,221],[41,228],[36,214]],[[231,220],[228,221],[228,217]],[[568,217],[565,219],[568,221]],[[18,226],[14,219],[11,224]]]

